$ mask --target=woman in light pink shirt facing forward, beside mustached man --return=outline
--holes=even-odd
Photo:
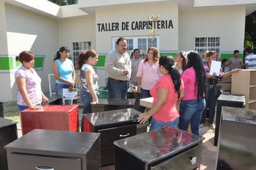
[[[158,60],[159,53],[157,48],[150,47],[144,60],[140,62],[137,72],[137,91],[140,93],[140,99],[151,97],[149,90],[161,76],[158,70]],[[140,106],[139,111],[145,112],[145,107]]]

